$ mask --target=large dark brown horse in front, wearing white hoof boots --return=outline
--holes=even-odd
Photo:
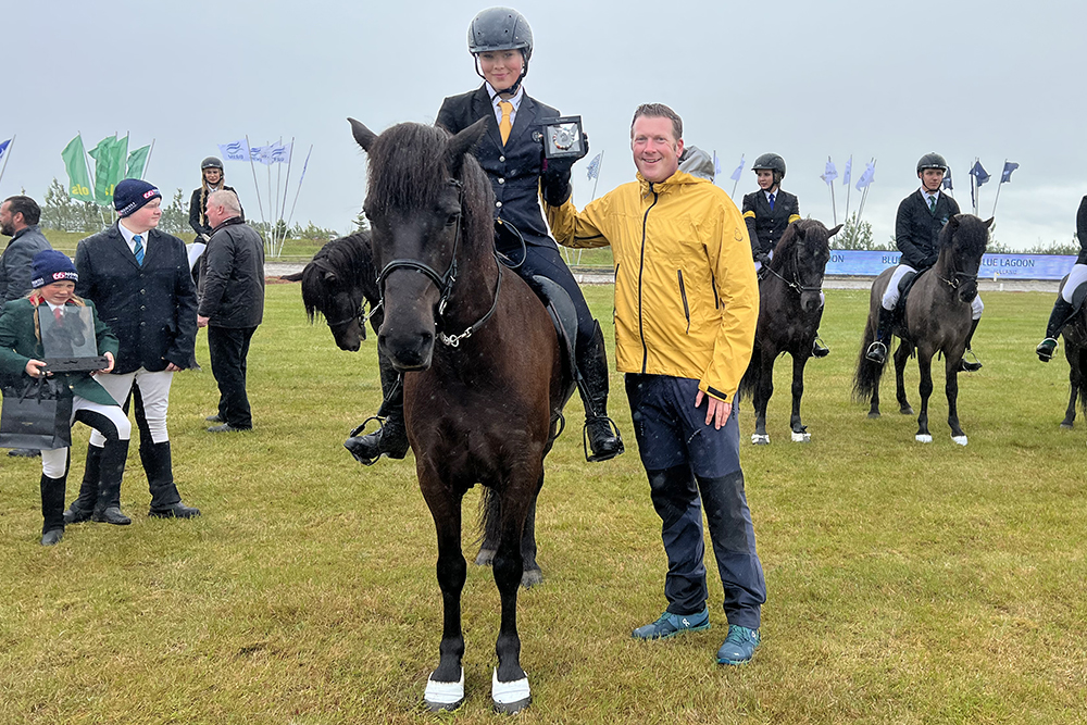
[[[455,136],[410,123],[380,136],[351,126],[370,154],[364,210],[385,308],[378,346],[404,373],[408,438],[438,534],[445,624],[424,701],[448,710],[464,698],[461,503],[483,484],[500,512],[491,697],[497,710],[518,712],[530,701],[517,634],[522,533],[573,392],[570,371],[544,305],[495,257],[493,193],[471,153],[486,122]]]

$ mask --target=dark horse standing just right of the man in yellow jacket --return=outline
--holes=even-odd
[[[821,293],[826,263],[830,259],[830,237],[841,225],[827,230],[822,222],[800,220],[782,235],[774,249],[769,272],[759,282],[759,326],[751,362],[740,383],[742,395],[752,393],[755,412],[751,442],[770,442],[766,434],[766,404],[774,395],[774,362],[786,352],[792,355],[794,442],[808,442],[811,434],[800,422],[800,399],[804,395],[804,365],[823,317]]]

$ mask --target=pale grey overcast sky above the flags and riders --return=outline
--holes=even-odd
[[[0,141],[16,136],[0,197],[38,198],[65,182],[60,152],[82,132],[91,148],[130,133],[154,139],[147,178],[188,193],[200,160],[217,143],[296,142],[287,204],[301,160],[313,155],[295,221],[347,232],[365,193],[365,158],[345,118],[374,130],[432,123],[441,99],[477,87],[466,50],[468,22],[485,2],[8,3],[3,12],[4,113]],[[597,193],[630,180],[634,109],[660,101],[684,118],[685,140],[721,158],[717,183],[747,158],[736,191],[755,188],[751,162],[773,151],[788,163],[783,188],[800,210],[832,221],[827,155],[853,179],[877,159],[864,220],[877,240],[917,188],[917,159],[942,153],[955,198],[970,211],[967,170],[979,157],[992,179],[980,215],[992,212],[1004,159],[1020,163],[1003,186],[996,237],[1025,248],[1067,241],[1087,192],[1087,120],[1080,2],[570,2],[514,5],[536,39],[525,88],[579,114],[590,157],[604,151]],[[592,185],[574,167],[575,202]],[[273,166],[273,170],[277,168]],[[284,170],[286,171],[286,170]],[[268,213],[266,172],[261,197]],[[249,215],[260,216],[248,164],[227,162]],[[846,189],[835,186],[839,221]],[[275,178],[273,177],[273,188]],[[280,187],[282,193],[282,187]],[[855,211],[859,192],[851,196]],[[289,209],[288,209],[289,211]]]

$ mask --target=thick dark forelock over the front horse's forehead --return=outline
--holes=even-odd
[[[370,150],[366,205],[421,209],[445,189],[449,133],[437,126],[402,123],[377,137]]]

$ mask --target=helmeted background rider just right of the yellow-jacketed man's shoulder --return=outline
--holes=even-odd
[[[744,195],[744,221],[751,237],[751,253],[754,268],[760,279],[770,270],[774,248],[790,224],[800,220],[800,201],[795,195],[782,190],[785,178],[785,159],[776,153],[764,153],[754,160],[751,171],[759,179],[759,190]],[[822,293],[820,297],[822,304]],[[815,335],[812,357],[825,358],[830,354],[823,341]]]

